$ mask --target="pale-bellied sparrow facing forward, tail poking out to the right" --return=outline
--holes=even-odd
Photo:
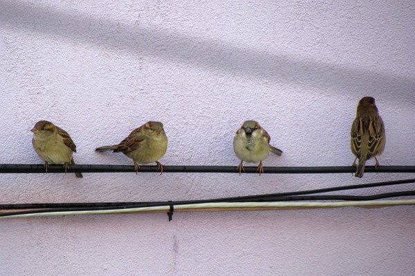
[[[264,128],[259,126],[257,121],[243,122],[241,128],[237,130],[233,141],[235,155],[241,160],[237,168],[239,175],[243,170],[243,161],[250,163],[259,161],[257,172],[261,175],[261,172],[264,172],[262,160],[268,157],[269,152],[272,151],[279,156],[282,154],[282,150],[271,146],[269,143],[270,135]]]

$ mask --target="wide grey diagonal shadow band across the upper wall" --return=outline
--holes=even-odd
[[[0,26],[89,43],[129,55],[154,55],[172,61],[225,70],[264,81],[322,87],[356,97],[382,92],[415,103],[415,79],[266,51],[238,48],[223,41],[149,30],[84,14],[68,14],[18,1],[0,0]]]

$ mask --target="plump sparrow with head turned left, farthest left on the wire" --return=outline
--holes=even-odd
[[[33,132],[33,148],[45,162],[46,172],[48,164],[64,164],[65,172],[69,164],[75,164],[72,152],[76,152],[76,146],[68,132],[50,121],[38,121],[30,131]],[[75,172],[75,175],[82,177],[81,172]]]

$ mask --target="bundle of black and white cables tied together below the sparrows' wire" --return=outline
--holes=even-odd
[[[232,167],[233,168],[233,167]],[[409,197],[415,190],[405,190],[376,195],[321,195],[324,193],[392,186],[415,183],[415,179],[378,182],[351,186],[338,186],[316,190],[303,190],[291,193],[226,197],[219,199],[199,199],[187,201],[153,202],[97,202],[97,203],[55,203],[55,204],[0,204],[0,219],[6,217],[37,217],[50,215],[82,215],[108,213],[149,213],[166,212],[169,221],[174,211],[225,211],[225,210],[274,210],[298,208],[338,208],[360,206],[367,208],[414,205],[415,199],[394,199]],[[384,199],[384,200],[377,200]]]

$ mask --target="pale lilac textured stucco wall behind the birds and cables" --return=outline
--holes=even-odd
[[[348,166],[356,104],[371,95],[387,130],[381,164],[414,164],[414,14],[414,1],[0,0],[0,162],[39,164],[29,130],[48,119],[74,139],[77,163],[131,164],[93,149],[160,120],[163,164],[237,165],[234,132],[257,119],[284,150],[264,166]],[[405,177],[0,175],[0,203],[205,199]],[[414,211],[4,219],[0,275],[414,275]]]

